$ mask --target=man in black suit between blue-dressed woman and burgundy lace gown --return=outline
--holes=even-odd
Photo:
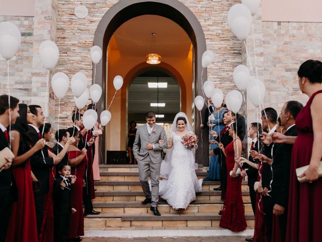
[[[215,131],[212,131],[212,136],[215,137],[216,142],[223,144],[223,147],[226,147],[231,141],[232,138],[229,136],[228,128],[232,123],[235,122],[236,115],[232,111],[226,111],[223,114],[223,123],[226,125],[225,129],[221,131],[218,135]],[[221,199],[224,200],[226,197],[226,187],[227,187],[227,166],[226,166],[226,157],[222,151],[218,148],[215,148],[211,151],[211,155],[219,155],[219,164],[220,164],[220,187],[214,188],[215,191],[221,191]]]

